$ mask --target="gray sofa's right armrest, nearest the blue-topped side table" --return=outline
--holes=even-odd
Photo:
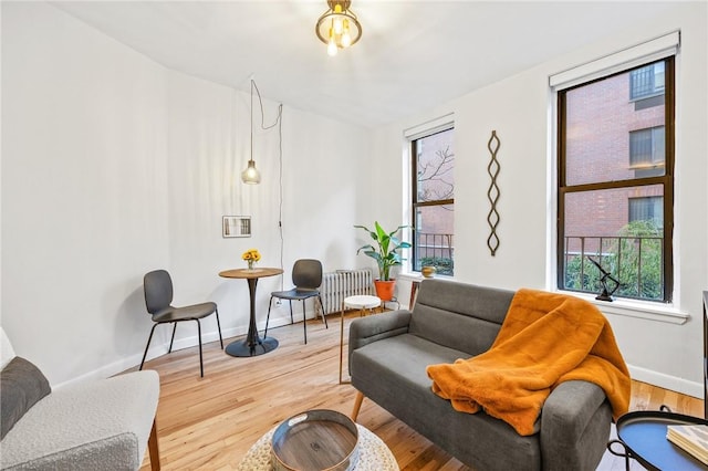
[[[597,385],[561,383],[541,411],[544,470],[594,470],[610,438],[612,409]]]

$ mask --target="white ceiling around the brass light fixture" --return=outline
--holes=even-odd
[[[335,57],[314,32],[325,0],[58,1],[169,69],[375,126],[442,104],[675,2],[353,0],[361,41]]]

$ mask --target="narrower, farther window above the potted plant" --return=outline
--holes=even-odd
[[[454,274],[455,149],[452,129],[410,142],[413,169],[413,270],[435,266]]]

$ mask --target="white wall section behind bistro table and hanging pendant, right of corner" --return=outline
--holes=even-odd
[[[269,293],[292,286],[290,270],[296,259],[320,259],[325,271],[354,266],[355,242],[342,234],[354,232],[362,190],[357,175],[361,156],[367,155],[367,133],[285,106],[281,214],[279,133],[278,127],[260,129],[258,96],[253,98],[253,160],[261,184],[251,186],[240,181],[249,158],[250,95],[177,73],[170,73],[169,82],[173,276],[183,285],[183,303],[189,302],[188,294],[192,301],[212,299],[220,307],[223,332],[242,334],[248,329],[248,284],[220,279],[218,272],[244,266],[243,251],[258,249],[260,266],[281,266],[282,253],[284,275],[258,282],[259,325],[264,325]],[[264,100],[263,108],[269,126],[275,122],[278,104]],[[243,132],[235,136],[236,128]],[[229,214],[250,216],[252,237],[222,239],[221,217]],[[308,310],[312,311],[310,303]],[[290,322],[289,311],[273,306],[271,325],[285,320]],[[196,326],[192,331],[196,335]],[[217,338],[215,331],[211,338]],[[194,338],[185,339],[186,345],[194,344]]]

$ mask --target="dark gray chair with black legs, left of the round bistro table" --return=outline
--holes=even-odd
[[[207,317],[214,313],[217,315],[217,327],[219,328],[219,342],[221,342],[221,349],[223,349],[223,338],[221,337],[221,323],[219,322],[219,310],[216,303],[207,302],[201,304],[192,304],[184,307],[175,307],[173,302],[173,279],[165,270],[155,270],[145,275],[143,279],[143,287],[145,290],[145,305],[147,312],[153,315],[153,328],[150,329],[150,336],[147,338],[147,345],[145,345],[145,353],[143,354],[143,360],[140,362],[140,368],[145,363],[147,356],[147,349],[150,346],[155,327],[159,324],[174,324],[173,337],[169,341],[169,349],[173,350],[173,342],[175,342],[175,332],[177,332],[177,323],[184,321],[196,321],[197,331],[199,333],[199,371],[204,377],[204,358],[201,355],[201,323],[200,318]]]

